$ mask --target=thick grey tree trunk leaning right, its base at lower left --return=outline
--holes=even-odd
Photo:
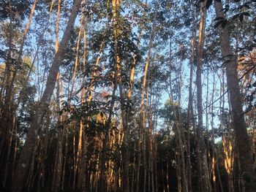
[[[39,127],[41,126],[42,119],[45,116],[45,112],[48,109],[50,104],[50,97],[53,94],[53,90],[56,84],[56,77],[59,72],[59,66],[61,61],[64,58],[67,44],[69,42],[69,37],[71,36],[71,31],[75,23],[75,18],[78,15],[78,9],[80,8],[81,0],[75,0],[72,7],[71,14],[69,16],[69,21],[67,23],[67,28],[64,31],[63,38],[56,55],[53,58],[53,65],[50,67],[48,80],[46,82],[45,91],[42,95],[42,98],[39,102],[39,106],[35,112],[34,118],[32,120],[29,132],[26,136],[26,142],[23,146],[23,150],[20,153],[20,159],[15,171],[15,177],[12,180],[12,191],[18,192],[23,188],[23,181],[26,176],[26,171],[29,166],[29,160],[31,153],[34,150],[36,138],[38,136]]]

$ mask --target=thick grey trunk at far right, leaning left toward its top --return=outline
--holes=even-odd
[[[225,19],[222,2],[214,1],[217,17]],[[230,45],[230,34],[227,25],[222,28],[219,26],[219,37],[222,48],[222,56],[225,59],[227,75],[227,88],[230,91],[231,114],[233,116],[233,128],[235,131],[236,145],[238,147],[238,158],[241,163],[241,170],[244,177],[245,191],[256,191],[256,177],[254,164],[252,161],[252,151],[249,136],[244,120],[241,93],[239,90],[236,57]]]

